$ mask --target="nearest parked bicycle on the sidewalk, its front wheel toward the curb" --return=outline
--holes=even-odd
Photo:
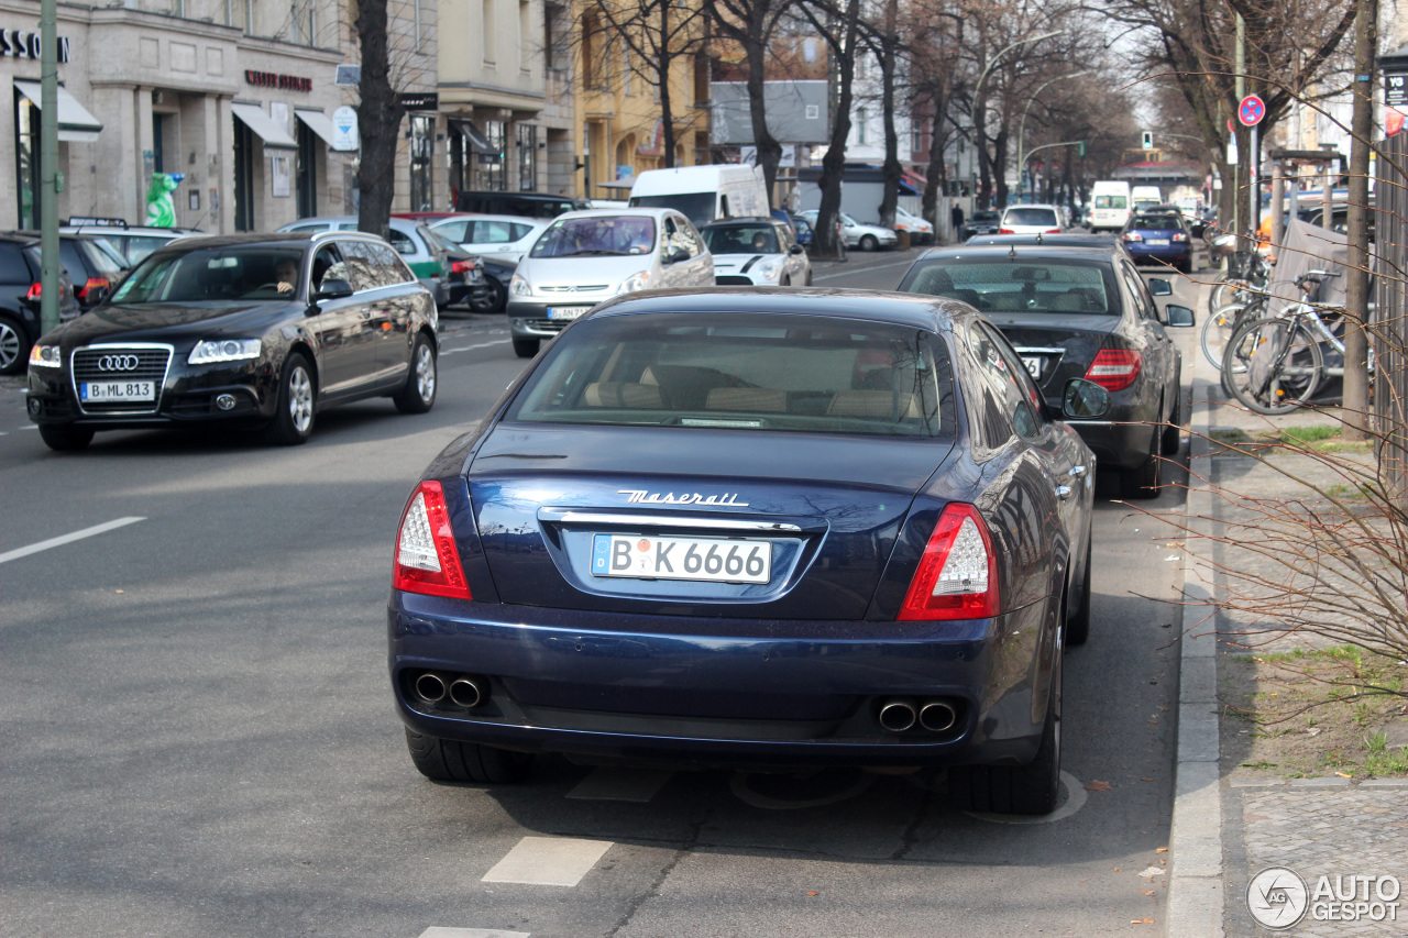
[[[1314,397],[1326,377],[1345,375],[1343,363],[1326,366],[1324,351],[1329,345],[1340,355],[1345,352],[1345,342],[1333,328],[1343,320],[1345,307],[1315,301],[1321,283],[1338,276],[1309,270],[1295,277],[1302,293],[1300,303],[1245,323],[1228,342],[1222,386],[1243,407],[1259,414],[1288,414]],[[1326,323],[1321,311],[1338,314],[1339,321]]]

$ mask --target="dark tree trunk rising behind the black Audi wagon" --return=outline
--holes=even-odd
[[[401,107],[391,87],[387,55],[386,0],[362,0],[356,31],[362,46],[362,83],[358,87],[358,132],[362,155],[356,182],[360,192],[356,224],[362,231],[386,238],[391,234],[391,199],[396,194],[396,146]]]

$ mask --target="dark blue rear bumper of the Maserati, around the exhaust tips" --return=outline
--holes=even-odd
[[[1045,720],[1032,701],[1046,697],[1032,693],[1036,669],[1012,662],[1038,658],[1029,620],[1043,607],[967,623],[696,620],[393,592],[389,663],[408,727],[508,749],[694,765],[1022,765]],[[424,700],[414,684],[427,670],[486,677],[489,703]],[[895,697],[952,703],[957,721],[886,731],[879,708]]]

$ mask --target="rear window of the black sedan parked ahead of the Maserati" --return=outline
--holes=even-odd
[[[1015,248],[1014,248],[1015,251]],[[1114,273],[1095,261],[941,259],[905,275],[901,293],[963,300],[984,313],[1084,313],[1118,315]]]

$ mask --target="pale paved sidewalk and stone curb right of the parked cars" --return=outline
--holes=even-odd
[[[1197,276],[1197,275],[1195,275]],[[1200,299],[1205,299],[1207,287]],[[1207,307],[1198,308],[1198,325]],[[1263,418],[1235,407],[1221,406],[1224,400],[1215,370],[1197,348],[1197,335],[1180,337],[1184,369],[1193,375],[1193,452],[1191,468],[1212,486],[1235,487],[1269,497],[1297,497],[1295,483],[1262,462],[1236,455],[1209,455],[1208,437],[1219,431],[1266,428],[1270,420],[1278,428],[1307,427],[1333,423],[1322,414],[1298,413]],[[1274,456],[1274,459],[1297,459]],[[1309,459],[1298,459],[1311,468]],[[1297,466],[1301,472],[1302,466]],[[1221,534],[1235,525],[1238,508],[1218,497],[1195,476],[1190,476],[1187,514],[1190,518],[1211,518],[1201,531]],[[1187,558],[1187,555],[1186,555]],[[1222,562],[1239,562],[1224,551]],[[1367,876],[1397,877],[1408,884],[1408,779],[1357,780],[1326,772],[1326,777],[1286,779],[1273,772],[1255,772],[1240,765],[1236,746],[1225,744],[1226,734],[1246,734],[1247,724],[1225,715],[1225,679],[1233,656],[1247,649],[1222,638],[1231,638],[1243,623],[1231,617],[1208,618],[1208,608],[1197,599],[1217,594],[1224,587],[1221,577],[1201,568],[1193,558],[1186,559],[1186,590],[1194,604],[1184,607],[1183,648],[1178,708],[1177,786],[1174,794],[1173,831],[1170,838],[1171,873],[1166,931],[1170,938],[1243,938],[1252,935],[1301,935],[1316,938],[1359,938],[1377,935],[1408,935],[1408,890],[1394,896],[1398,903],[1397,920],[1374,921],[1370,914],[1385,918],[1391,910],[1352,908],[1356,921],[1328,921],[1329,908],[1321,903],[1315,911],[1315,890],[1321,877],[1329,884],[1340,884],[1353,899],[1362,899],[1363,884],[1352,884],[1336,877]],[[1278,639],[1273,648],[1286,649],[1290,639]],[[1232,724],[1232,725],[1229,725]],[[1257,877],[1267,868],[1287,868],[1304,882],[1307,894],[1295,894],[1294,877],[1273,873]],[[1270,896],[1273,903],[1300,901],[1309,908],[1298,924],[1273,931],[1260,925],[1247,906],[1247,886],[1256,877],[1256,894]],[[1390,880],[1381,880],[1391,890]],[[1270,886],[1288,887],[1284,893],[1269,893]],[[1367,886],[1369,900],[1376,900],[1374,886]],[[1318,899],[1324,899],[1321,894]],[[1339,903],[1331,896],[1329,900]],[[1388,903],[1385,903],[1387,906]],[[1338,907],[1345,911],[1343,907]]]

